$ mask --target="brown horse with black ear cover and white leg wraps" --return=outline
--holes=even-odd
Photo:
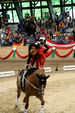
[[[33,73],[25,77],[25,97],[23,99],[23,105],[21,110],[25,111],[24,113],[27,113],[28,106],[29,106],[29,97],[30,96],[36,96],[41,101],[41,111],[40,113],[44,113],[44,89],[46,87],[46,80],[49,78],[50,75],[46,76],[44,69],[36,69]],[[20,85],[20,74],[17,76],[17,100],[16,100],[16,106],[18,106],[19,103],[19,97],[22,91],[21,85]]]

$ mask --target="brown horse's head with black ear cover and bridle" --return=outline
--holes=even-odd
[[[39,95],[44,95],[44,89],[46,87],[46,80],[50,77],[50,75],[46,76],[45,74],[37,74],[38,82],[39,82]]]

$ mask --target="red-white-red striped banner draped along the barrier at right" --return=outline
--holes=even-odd
[[[72,48],[73,46],[75,46],[75,41],[72,41],[70,43],[67,43],[67,44],[57,44],[53,41],[51,41],[49,38],[46,38],[46,44],[52,48],[52,47],[55,47],[57,49],[70,49]]]

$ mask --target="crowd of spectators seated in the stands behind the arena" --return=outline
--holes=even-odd
[[[57,13],[55,14],[55,21],[49,18],[45,21],[43,18],[34,19],[36,26],[35,34],[27,35],[23,31],[21,23],[17,25],[17,31],[11,32],[9,27],[3,28],[0,40],[1,46],[12,46],[13,40],[23,40],[23,45],[27,43],[37,42],[40,39],[46,40],[48,37],[50,40],[56,39],[57,43],[67,43],[69,41],[75,40],[75,27],[73,26],[73,21],[71,17],[65,16],[60,20]],[[66,33],[66,29],[73,28],[73,31],[69,34]]]

